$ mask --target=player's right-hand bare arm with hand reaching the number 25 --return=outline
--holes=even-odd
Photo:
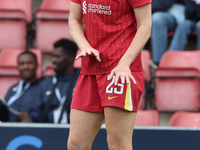
[[[137,22],[137,32],[118,65],[111,71],[110,78],[112,78],[114,74],[116,75],[115,84],[117,84],[119,77],[122,83],[125,80],[129,82],[129,79],[131,79],[136,84],[129,67],[140,53],[151,34],[151,4],[135,8],[134,13]]]

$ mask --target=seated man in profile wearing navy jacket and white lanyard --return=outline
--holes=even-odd
[[[76,53],[77,46],[70,40],[61,39],[54,44],[52,64],[56,75],[47,78],[41,83],[39,94],[40,105],[36,106],[32,112],[32,121],[58,123],[62,106],[66,100],[66,92],[70,90],[69,85],[73,78],[72,76],[75,75],[74,88],[80,74],[80,69],[73,67]],[[54,86],[55,84],[56,86]],[[69,123],[72,95],[73,93],[70,94],[70,101],[67,103],[61,123]],[[52,97],[52,102],[46,108],[50,97]]]

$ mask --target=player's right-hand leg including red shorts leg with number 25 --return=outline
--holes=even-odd
[[[137,84],[114,84],[115,77],[107,80],[107,76],[98,78],[102,106],[107,131],[109,150],[132,150],[132,134],[135,116],[143,90],[143,73],[132,72]],[[104,85],[102,85],[104,84]]]

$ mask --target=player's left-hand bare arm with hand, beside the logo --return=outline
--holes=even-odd
[[[75,43],[81,50],[76,59],[86,55],[94,55],[98,61],[100,60],[99,52],[91,47],[84,35],[83,29],[83,14],[81,4],[70,2],[70,15],[69,15],[69,32]]]

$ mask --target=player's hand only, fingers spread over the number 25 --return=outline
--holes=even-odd
[[[131,71],[129,69],[128,65],[124,64],[118,64],[110,73],[109,80],[113,78],[115,75],[115,85],[117,85],[119,78],[121,78],[121,82],[124,84],[125,81],[127,84],[130,83],[130,80],[133,81],[133,83],[137,84],[135,78],[132,76]]]

